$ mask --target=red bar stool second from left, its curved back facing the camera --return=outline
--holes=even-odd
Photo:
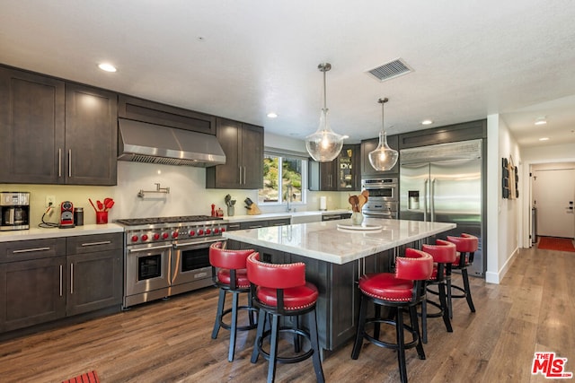
[[[254,306],[260,309],[258,332],[252,353],[252,363],[261,356],[268,361],[268,382],[276,376],[276,363],[296,363],[312,357],[315,378],[324,382],[322,361],[317,340],[317,323],[315,319],[315,301],[317,288],[305,282],[305,264],[268,264],[260,262],[260,255],[253,253],[247,259],[248,279],[252,283]],[[298,317],[307,314],[309,332],[298,327]],[[267,318],[271,319],[271,329],[265,330]],[[295,317],[295,327],[279,326],[280,317]],[[264,331],[265,330],[265,331]],[[281,357],[278,355],[280,332],[292,333],[295,336],[296,356]],[[310,341],[311,348],[306,352],[299,350],[299,336]],[[263,340],[270,337],[270,353],[263,350]]]

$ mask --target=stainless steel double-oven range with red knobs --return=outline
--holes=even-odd
[[[124,308],[212,284],[209,245],[227,221],[187,215],[117,220],[126,226]]]

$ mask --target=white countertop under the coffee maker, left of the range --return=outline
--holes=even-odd
[[[74,237],[78,235],[105,234],[109,232],[123,231],[124,227],[116,223],[83,225],[68,229],[31,228],[30,230],[22,231],[0,231],[0,242],[8,242],[11,240]]]

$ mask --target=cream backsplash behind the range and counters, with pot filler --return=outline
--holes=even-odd
[[[109,222],[119,218],[154,217],[169,215],[196,215],[211,213],[211,204],[221,207],[226,213],[224,197],[230,194],[237,203],[235,215],[245,214],[243,200],[258,199],[257,190],[207,189],[206,170],[186,166],[155,165],[118,161],[118,185],[115,187],[86,187],[65,185],[22,185],[0,184],[3,191],[28,191],[31,193],[31,227],[38,226],[46,212],[46,196],[56,196],[57,205],[71,201],[76,207],[84,207],[84,224],[95,223],[95,213],[88,198],[96,200],[111,197],[115,205],[109,213]],[[155,190],[155,184],[169,187],[169,194],[146,193],[137,196],[140,190]],[[320,196],[327,197],[328,209],[349,207],[348,194],[337,192],[308,192],[307,205],[295,205],[297,211],[318,210]],[[262,213],[285,212],[286,205],[261,206]],[[45,218],[57,222],[57,212]]]

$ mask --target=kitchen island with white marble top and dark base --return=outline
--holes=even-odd
[[[365,230],[350,220],[301,223],[228,231],[229,248],[253,248],[271,263],[305,263],[305,277],[319,290],[317,326],[323,353],[355,335],[359,309],[358,277],[389,271],[403,248],[449,231],[455,223],[367,218]]]

